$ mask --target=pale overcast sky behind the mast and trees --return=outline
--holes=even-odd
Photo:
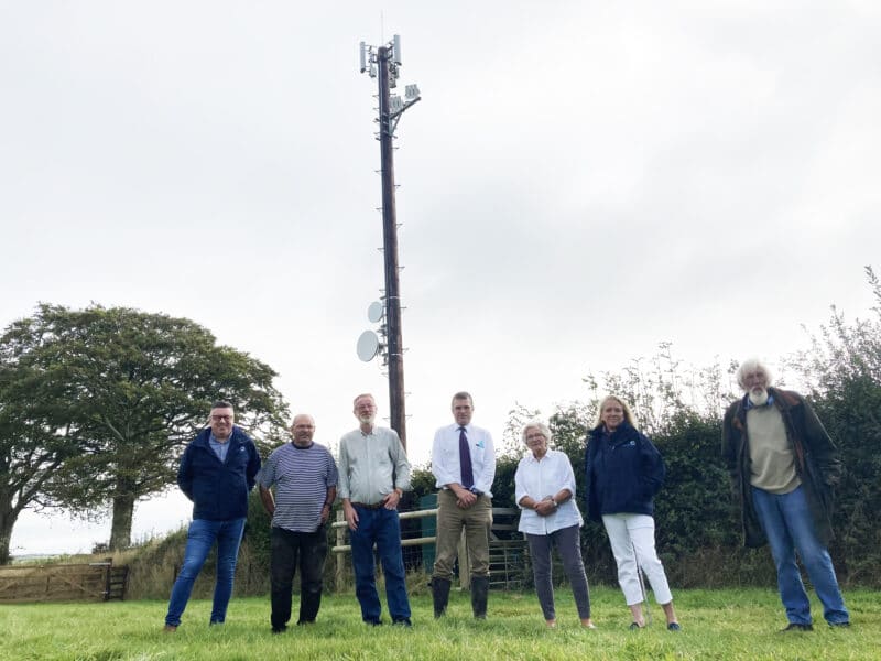
[[[423,100],[395,152],[409,449],[449,398],[516,402],[652,356],[779,357],[871,304],[881,4],[0,1],[0,327],[39,301],[185,316],[271,365],[333,445],[372,391],[383,288],[376,80]],[[189,518],[139,506],[135,537]],[[13,554],[88,550],[26,514]]]

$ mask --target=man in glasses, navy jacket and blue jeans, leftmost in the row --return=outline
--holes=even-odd
[[[239,543],[248,516],[248,492],[260,470],[253,441],[232,424],[232,404],[211,405],[210,426],[186,446],[177,470],[177,486],[193,501],[184,564],[172,588],[165,631],[175,631],[189,600],[193,584],[217,542],[217,582],[210,625],[226,619]]]

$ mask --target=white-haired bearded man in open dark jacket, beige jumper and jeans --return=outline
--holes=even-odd
[[[813,629],[796,552],[826,621],[847,627],[850,616],[827,551],[833,487],[841,474],[838,451],[801,394],[770,387],[771,375],[762,362],[746,360],[737,378],[746,394],[726,411],[722,456],[741,505],[744,544],[771,545],[790,620],[784,631]]]

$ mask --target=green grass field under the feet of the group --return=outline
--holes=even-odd
[[[677,590],[683,631],[664,628],[661,609],[641,631],[628,630],[618,589],[591,589],[599,629],[578,626],[568,590],[557,590],[558,628],[548,630],[533,594],[492,593],[489,619],[474,620],[465,594],[449,614],[432,617],[431,598],[413,602],[413,629],[368,628],[351,594],[325,596],[318,622],[273,636],[269,598],[233,599],[227,624],[208,628],[210,602],[191,602],[176,633],[163,633],[165,602],[0,606],[0,659],[877,659],[881,594],[850,589],[853,627],[830,629],[819,617],[811,633],[779,633],[786,622],[771,589]],[[294,618],[298,597],[294,596]]]

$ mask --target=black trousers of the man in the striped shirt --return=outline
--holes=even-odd
[[[327,557],[327,529],[295,532],[272,529],[270,578],[272,590],[272,628],[281,629],[291,619],[291,590],[300,564],[300,620],[314,622],[322,606],[322,576]]]

